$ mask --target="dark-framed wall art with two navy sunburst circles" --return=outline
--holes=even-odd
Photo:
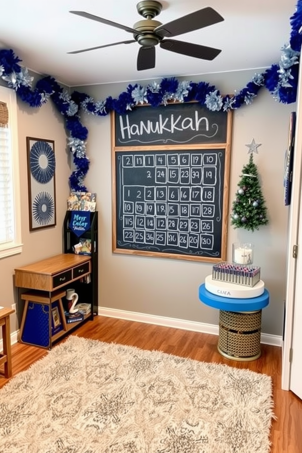
[[[56,225],[54,141],[26,137],[29,230]]]

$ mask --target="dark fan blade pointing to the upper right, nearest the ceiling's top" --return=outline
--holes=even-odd
[[[187,14],[179,19],[173,20],[168,24],[159,25],[154,30],[162,38],[165,36],[178,36],[179,34],[188,33],[190,31],[199,30],[209,25],[217,24],[225,20],[210,6],[194,13]]]

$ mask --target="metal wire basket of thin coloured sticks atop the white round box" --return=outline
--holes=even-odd
[[[260,267],[222,261],[213,266],[212,280],[254,286],[260,280]]]

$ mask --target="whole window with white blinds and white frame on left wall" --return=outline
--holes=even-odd
[[[14,90],[0,86],[0,102],[6,104],[9,116],[8,125],[0,125],[0,258],[4,258],[22,251],[17,101]]]

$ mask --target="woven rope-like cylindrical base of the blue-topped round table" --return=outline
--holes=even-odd
[[[218,351],[239,361],[256,360],[260,350],[261,310],[251,313],[220,311]]]

